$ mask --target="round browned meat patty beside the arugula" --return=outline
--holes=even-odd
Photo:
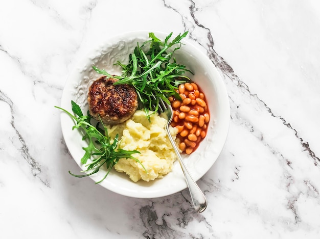
[[[105,124],[120,124],[129,119],[138,108],[138,95],[127,84],[113,85],[116,78],[101,76],[89,87],[89,113]]]

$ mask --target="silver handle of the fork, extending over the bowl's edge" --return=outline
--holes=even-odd
[[[167,125],[167,132],[168,132],[168,137],[172,144],[172,147],[178,157],[178,161],[181,166],[182,172],[184,172],[194,209],[197,211],[197,213],[202,213],[202,211],[204,211],[205,208],[207,208],[207,205],[208,205],[207,199],[205,199],[204,194],[198,187],[197,183],[191,177],[184,161],[182,160],[181,155],[177,149],[177,146],[175,145],[174,140],[170,135],[169,125]]]

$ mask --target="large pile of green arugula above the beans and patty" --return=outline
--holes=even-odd
[[[129,84],[133,86],[140,100],[140,108],[144,109],[149,121],[149,111],[156,112],[158,110],[159,99],[168,100],[169,96],[180,99],[177,93],[179,84],[190,81],[190,78],[184,75],[186,72],[192,73],[186,69],[186,66],[179,65],[173,54],[181,46],[181,40],[187,36],[188,32],[179,34],[171,42],[170,33],[164,42],[157,38],[154,33],[149,33],[149,38],[141,45],[139,43],[134,48],[132,54],[129,55],[129,63],[123,64],[117,62],[116,65],[122,67],[123,74],[121,76],[112,76],[119,79],[114,85]],[[147,47],[148,46],[148,47]],[[176,46],[171,49],[171,47]],[[147,50],[144,50],[147,47]],[[99,73],[111,77],[105,70],[93,67]]]

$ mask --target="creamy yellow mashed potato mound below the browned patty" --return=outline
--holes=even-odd
[[[128,174],[134,182],[140,179],[150,181],[163,177],[171,171],[173,162],[176,160],[165,129],[167,121],[158,114],[151,115],[150,119],[151,123],[145,112],[137,110],[124,124],[108,128],[111,138],[119,134],[120,148],[140,151],[140,154],[135,153],[132,156],[143,164],[147,172],[132,158],[121,158],[114,167],[118,172]],[[177,128],[170,126],[170,134],[175,140]]]

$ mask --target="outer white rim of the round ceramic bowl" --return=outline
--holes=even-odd
[[[103,49],[106,48],[108,45],[110,45],[110,43],[112,42],[116,42],[117,40],[119,41],[119,39],[128,39],[129,37],[137,37],[137,36],[143,36],[144,38],[148,39],[148,33],[153,32],[155,34],[156,37],[158,38],[164,38],[166,36],[168,36],[168,33],[165,32],[158,32],[158,31],[129,31],[129,32],[125,32],[122,34],[117,34],[115,36],[111,36],[108,38],[103,39],[96,47],[93,47],[92,49],[88,50],[86,55],[84,57],[82,57],[81,59],[78,60],[78,62],[76,63],[76,66],[79,65],[83,65],[83,64],[90,64],[90,55],[92,55],[93,51],[96,51],[97,49]],[[146,37],[147,36],[147,37]],[[176,35],[172,34],[172,37],[174,37]],[[183,43],[184,45],[181,47],[183,49],[183,47],[189,47],[193,50],[195,50],[195,52],[197,52],[197,55],[199,58],[202,59],[202,61],[205,62],[205,64],[208,64],[208,66],[211,66],[211,71],[214,73],[214,79],[215,79],[215,83],[218,86],[219,92],[216,92],[217,95],[219,96],[218,98],[220,99],[219,103],[223,104],[224,107],[224,111],[222,112],[223,116],[222,118],[225,120],[224,122],[221,123],[221,127],[222,127],[222,131],[223,134],[221,134],[221,139],[219,140],[219,144],[217,145],[218,147],[215,149],[218,153],[215,155],[216,158],[214,161],[211,161],[211,164],[208,167],[208,170],[213,166],[213,164],[216,162],[217,158],[219,157],[226,139],[227,139],[227,135],[228,135],[228,130],[229,130],[229,126],[230,126],[230,102],[228,99],[228,95],[227,95],[227,90],[226,90],[226,86],[222,81],[222,77],[220,75],[220,73],[218,72],[217,68],[215,67],[215,65],[213,64],[213,62],[209,59],[209,57],[207,55],[205,55],[203,53],[203,49],[200,48],[199,46],[195,45],[194,42],[192,42],[191,40],[184,38],[181,40],[181,43]],[[71,73],[68,75],[67,81],[65,83],[64,89],[71,87],[70,86],[70,81],[72,79],[72,77],[75,77],[77,75],[79,75],[79,72],[77,72],[79,69],[77,69],[77,67],[75,67]],[[70,99],[70,95],[68,95],[67,91],[63,91],[62,93],[62,97],[61,97],[61,107],[62,108],[66,108],[65,105],[67,103],[67,101]],[[70,101],[69,101],[70,103]],[[71,109],[71,108],[69,108]],[[65,114],[63,114],[63,112],[61,112],[61,129],[62,129],[62,134],[63,134],[63,138],[64,141],[66,143],[66,146],[68,148],[68,150],[70,151],[72,157],[74,158],[74,160],[76,161],[76,163],[78,164],[78,166],[83,169],[82,165],[79,164],[80,160],[76,159],[74,157],[75,153],[74,150],[70,149],[70,137],[67,136],[66,130],[71,130],[71,128],[67,128],[70,126],[70,124],[65,125],[63,122],[66,120],[65,118]],[[79,146],[79,148],[81,148]],[[177,164],[177,162],[175,162]],[[206,170],[204,173],[201,173],[201,175],[198,175],[197,177],[195,177],[195,181],[199,180],[201,177],[203,177],[203,175],[205,173],[208,172],[208,170]],[[166,175],[167,176],[167,175]],[[165,177],[166,177],[165,176]],[[109,175],[108,175],[109,177]],[[181,190],[184,190],[187,188],[187,184],[184,182],[184,186],[183,187],[179,187],[177,189],[168,189],[164,192],[151,192],[149,194],[143,195],[141,193],[137,193],[135,191],[128,191],[128,190],[123,190],[119,187],[117,187],[117,185],[112,184],[112,183],[108,183],[108,177],[104,180],[105,183],[100,183],[100,185],[103,188],[106,188],[112,192],[124,195],[124,196],[128,196],[128,197],[134,197],[134,198],[157,198],[157,197],[163,197],[163,196],[168,196],[177,192],[180,192]],[[97,175],[92,175],[90,176],[90,178],[92,178],[94,181],[98,181],[99,177],[97,177]],[[160,179],[161,180],[161,179]]]

